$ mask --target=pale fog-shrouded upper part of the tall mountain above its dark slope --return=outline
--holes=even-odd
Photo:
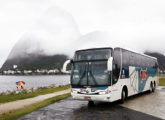
[[[80,36],[71,14],[61,8],[50,7],[16,43],[9,58],[26,57],[28,54],[71,55]]]

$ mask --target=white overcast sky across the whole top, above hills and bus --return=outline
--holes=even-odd
[[[165,53],[164,0],[0,0],[0,3],[1,62],[20,39],[39,41],[47,54],[71,54],[75,49],[104,43],[140,52]],[[96,40],[107,34],[105,42]],[[35,46],[27,50],[33,51]]]

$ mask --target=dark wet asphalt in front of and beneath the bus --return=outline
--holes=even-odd
[[[164,89],[164,88],[163,88]],[[163,92],[157,90],[156,93]],[[165,90],[164,90],[165,92]],[[133,96],[129,101],[138,101],[137,98],[150,96],[149,93]],[[140,100],[139,98],[139,100]],[[149,98],[148,98],[149,99]],[[139,106],[139,105],[138,105]],[[164,105],[165,106],[165,105]],[[146,108],[147,109],[147,108]],[[150,109],[150,108],[148,108]],[[94,106],[88,106],[87,101],[73,100],[71,97],[41,108],[35,112],[21,117],[19,120],[161,120],[149,115],[121,106],[119,102],[103,103],[95,102]]]

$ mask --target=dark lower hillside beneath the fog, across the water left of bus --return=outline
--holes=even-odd
[[[36,69],[59,69],[68,59],[66,55],[29,55],[28,58],[14,58],[7,60],[2,70],[9,70],[13,65],[17,65],[19,70],[36,70]]]

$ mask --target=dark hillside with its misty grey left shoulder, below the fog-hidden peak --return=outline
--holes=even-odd
[[[13,65],[20,70],[58,69],[67,59],[64,54],[47,54],[39,41],[24,39],[15,44],[1,71],[13,69]]]

